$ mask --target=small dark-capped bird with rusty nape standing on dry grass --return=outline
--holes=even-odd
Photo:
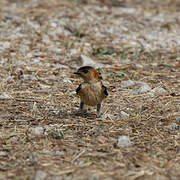
[[[79,112],[83,113],[84,105],[97,106],[97,117],[101,117],[101,103],[108,96],[101,74],[91,66],[82,66],[74,74],[84,80],[76,89],[80,96]]]

